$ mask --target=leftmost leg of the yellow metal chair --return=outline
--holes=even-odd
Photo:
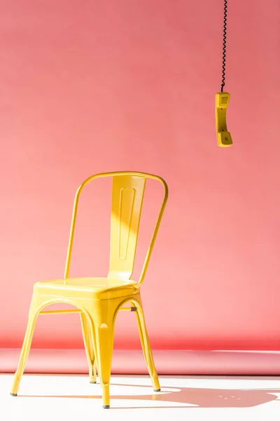
[[[22,344],[22,351],[20,353],[20,361],[18,362],[18,369],[15,372],[13,386],[10,391],[10,394],[12,396],[18,395],[18,388],[20,387],[20,380],[22,378],[22,374],[25,370],[25,365],[27,363],[27,358],[29,356],[29,351],[31,347],[33,334],[34,334],[36,319],[37,319],[36,305],[35,305],[34,298],[32,298],[30,309],[29,309],[27,330],[25,332],[25,340],[23,341],[23,344]]]

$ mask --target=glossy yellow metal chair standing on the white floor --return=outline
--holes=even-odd
[[[103,177],[111,177],[113,179],[109,275],[107,278],[69,278],[73,235],[80,192],[82,192],[83,187],[90,181]],[[137,282],[132,281],[130,278],[134,269],[139,221],[147,179],[160,182],[164,189],[164,195],[151,243],[146,254],[144,267],[141,271],[140,279]],[[97,366],[99,380],[102,385],[103,407],[110,408],[109,382],[113,354],[113,330],[119,310],[135,312],[148,373],[151,375],[153,389],[155,392],[160,392],[160,383],[153,362],[153,355],[141,305],[140,286],[144,281],[148,262],[151,258],[155,239],[167,203],[167,197],[168,188],[165,180],[162,180],[162,178],[156,175],[146,173],[125,171],[97,174],[87,178],[80,185],[76,192],[73,205],[64,279],[37,282],[34,285],[27,331],[22,345],[18,370],[15,372],[13,387],[10,392],[11,395],[17,396],[18,394],[18,387],[25,370],[38,314],[76,312],[80,314],[85,352],[90,370],[90,382],[96,382],[95,366]],[[77,309],[42,311],[44,307],[57,302],[73,305]],[[127,302],[130,302],[131,307],[123,307]]]

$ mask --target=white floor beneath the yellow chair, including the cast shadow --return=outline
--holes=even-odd
[[[111,408],[85,375],[24,375],[17,397],[13,375],[0,375],[0,420],[269,420],[279,421],[280,377],[112,376]]]

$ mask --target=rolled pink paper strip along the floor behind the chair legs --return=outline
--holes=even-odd
[[[0,373],[15,373],[20,349],[0,349]],[[280,375],[279,351],[154,349],[159,375]],[[84,349],[31,349],[25,373],[88,373]],[[147,374],[141,350],[115,349],[112,374]]]

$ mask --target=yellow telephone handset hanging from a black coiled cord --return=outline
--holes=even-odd
[[[230,93],[218,92],[215,96],[216,108],[216,132],[217,142],[220,147],[229,147],[232,145],[232,136],[228,132],[226,112],[230,102]]]

